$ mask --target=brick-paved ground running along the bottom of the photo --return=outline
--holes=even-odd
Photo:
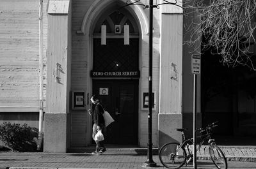
[[[153,156],[157,163],[155,168],[164,168],[157,155]],[[147,155],[141,154],[102,154],[90,153],[0,153],[0,168],[143,168]],[[216,168],[210,160],[198,160],[198,168]],[[193,168],[190,163],[186,168]],[[228,161],[228,168],[255,169],[256,163]]]

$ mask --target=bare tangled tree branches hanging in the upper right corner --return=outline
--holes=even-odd
[[[221,55],[223,64],[242,64],[256,70],[256,0],[183,0],[183,3],[186,17],[191,18],[185,26],[191,37],[184,41],[186,44],[198,48],[195,45],[200,40],[202,51],[211,48],[212,54]],[[198,17],[191,17],[195,13]]]

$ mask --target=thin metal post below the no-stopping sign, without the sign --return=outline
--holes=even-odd
[[[193,89],[193,140],[194,140],[194,150],[193,150],[193,166],[196,166],[196,74],[194,74],[194,89]]]

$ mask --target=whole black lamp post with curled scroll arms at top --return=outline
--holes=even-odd
[[[148,145],[147,145],[147,160],[143,163],[143,167],[155,167],[156,163],[153,161],[152,157],[152,66],[153,66],[153,8],[159,8],[162,4],[172,4],[179,6],[177,0],[174,0],[174,3],[169,1],[162,1],[163,3],[153,4],[153,0],[149,1],[149,4],[139,3],[141,0],[136,0],[133,3],[126,2],[127,5],[141,5],[143,9],[149,8],[149,43],[148,43]],[[147,3],[147,0],[146,0]],[[124,8],[123,6],[122,8]],[[181,7],[181,6],[179,6]],[[182,7],[181,7],[182,8]]]

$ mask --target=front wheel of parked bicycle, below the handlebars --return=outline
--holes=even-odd
[[[216,143],[211,143],[209,147],[209,154],[211,156],[211,159],[219,169],[227,169],[227,159],[225,158],[224,153],[221,151],[220,147],[216,145]]]

